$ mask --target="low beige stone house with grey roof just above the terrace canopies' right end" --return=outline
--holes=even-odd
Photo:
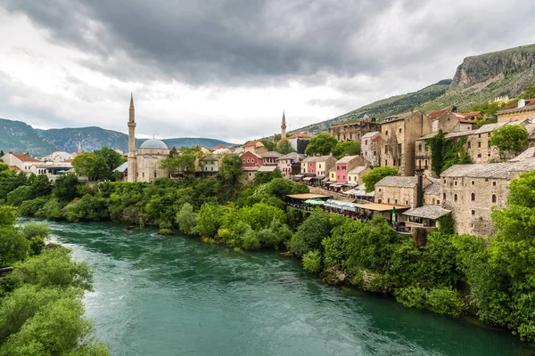
[[[421,180],[421,185],[419,181]],[[418,207],[424,204],[424,189],[432,182],[427,177],[384,177],[375,183],[375,203]]]

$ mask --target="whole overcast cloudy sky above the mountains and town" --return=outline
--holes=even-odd
[[[0,0],[0,117],[243,142],[535,43],[511,0]]]

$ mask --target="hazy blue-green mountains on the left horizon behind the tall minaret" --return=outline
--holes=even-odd
[[[136,139],[139,147],[146,139]],[[169,148],[202,146],[213,148],[219,144],[234,146],[235,143],[207,138],[171,138],[161,140]],[[45,156],[53,151],[76,152],[80,142],[82,150],[89,152],[101,148],[128,150],[128,134],[105,130],[101,127],[53,128],[39,130],[21,121],[0,118],[0,150]]]

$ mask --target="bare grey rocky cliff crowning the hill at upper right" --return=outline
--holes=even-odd
[[[467,57],[457,71],[450,89],[465,89],[478,83],[502,80],[505,77],[524,72],[526,81],[535,79],[535,44],[511,48],[505,51],[486,53],[478,56]],[[523,89],[523,84],[509,88],[514,96]]]

